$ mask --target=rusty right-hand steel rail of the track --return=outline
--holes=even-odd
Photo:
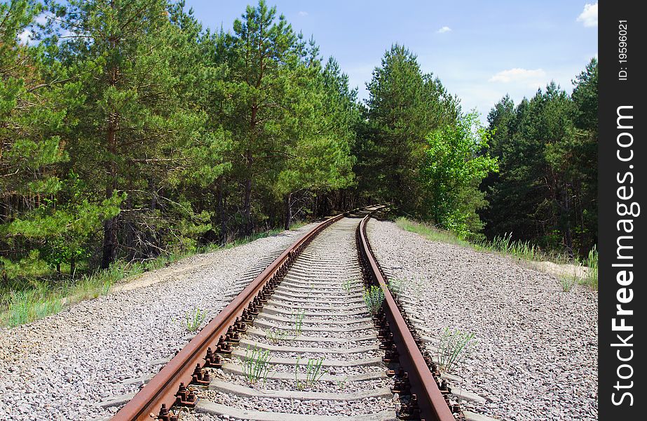
[[[366,225],[372,214],[369,213],[360,222],[359,234],[362,248],[360,253],[365,256],[370,275],[374,277],[384,293],[383,310],[389,323],[390,331],[393,333],[393,342],[399,354],[400,366],[408,373],[411,394],[415,394],[418,399],[420,417],[426,421],[455,421],[454,415],[451,414],[447,402],[440,389],[438,389],[423,354],[418,349],[418,345],[416,345],[416,341],[400,313],[400,309],[395,304],[393,295],[391,295],[375,259],[366,234]]]

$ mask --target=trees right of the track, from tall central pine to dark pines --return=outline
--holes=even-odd
[[[367,84],[357,191],[473,241],[584,258],[597,243],[597,74],[593,59],[572,95],[555,83],[516,106],[506,95],[484,128],[393,46]]]

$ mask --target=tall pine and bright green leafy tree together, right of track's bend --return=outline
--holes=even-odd
[[[486,203],[479,183],[497,166],[482,153],[489,134],[476,116],[403,46],[386,52],[367,88],[355,149],[365,202],[388,201],[461,236],[479,232],[476,210]]]

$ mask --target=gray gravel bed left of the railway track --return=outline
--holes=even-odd
[[[207,320],[229,303],[223,293],[261,257],[284,250],[313,225],[236,248],[197,255],[144,277],[156,282],[81,302],[46,319],[0,329],[0,420],[88,420],[110,415],[95,405],[135,392],[130,377],[159,368],[187,342],[180,319],[194,307]],[[256,267],[256,268],[254,268]],[[137,282],[137,281],[135,281]],[[230,288],[231,289],[228,289]]]

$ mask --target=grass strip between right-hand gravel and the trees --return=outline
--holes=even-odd
[[[438,229],[437,227],[433,227],[431,225],[423,224],[420,222],[411,221],[407,218],[397,218],[395,224],[405,231],[421,234],[425,236],[425,238],[432,241],[442,241],[443,243],[456,244],[458,246],[473,248],[477,251],[503,253],[505,255],[515,256],[516,258],[530,262],[550,261],[557,263],[558,265],[573,263],[572,261],[568,260],[566,255],[547,253],[545,252],[545,250],[540,249],[530,241],[512,241],[512,234],[496,236],[492,241],[477,241],[470,243],[470,241],[458,238],[452,232],[444,231],[442,229]],[[586,275],[580,276],[576,273],[573,274],[573,276],[562,276],[560,279],[562,289],[565,291],[571,290],[573,285],[580,283],[581,285],[586,285],[593,290],[597,290],[597,248],[592,248],[592,250],[589,252],[589,255],[583,262],[576,260],[574,263],[577,266],[587,267],[588,269],[586,271],[583,271],[586,272]]]

